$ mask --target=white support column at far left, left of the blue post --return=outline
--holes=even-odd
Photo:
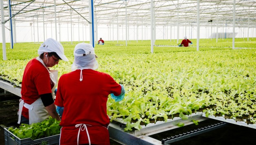
[[[5,43],[5,26],[4,26],[4,0],[0,0],[0,5],[1,5],[3,60],[7,60],[7,57],[6,57],[6,43]]]

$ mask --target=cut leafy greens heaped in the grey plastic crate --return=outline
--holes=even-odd
[[[20,139],[31,138],[32,140],[60,134],[60,121],[49,117],[40,123],[31,125],[22,124],[20,128],[10,127],[8,130]]]

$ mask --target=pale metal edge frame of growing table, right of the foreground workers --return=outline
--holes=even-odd
[[[161,145],[162,142],[150,137],[150,135],[158,134],[175,128],[178,123],[184,123],[184,125],[190,125],[194,122],[192,120],[204,121],[208,118],[202,116],[202,112],[188,115],[189,119],[182,120],[180,117],[174,117],[174,119],[168,119],[167,122],[157,121],[156,123],[150,123],[147,126],[142,126],[140,130],[132,130],[124,132],[125,124],[120,121],[112,121],[108,126],[108,132],[111,139],[125,145]]]

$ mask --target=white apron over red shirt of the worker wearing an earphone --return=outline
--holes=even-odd
[[[44,67],[49,71],[49,69],[45,66],[44,62],[42,59],[40,59],[40,57],[36,58],[39,62],[41,62]],[[54,83],[54,86],[52,88],[52,96],[53,99],[55,99],[55,88],[57,86],[57,79],[58,79],[58,71],[57,70],[50,70],[49,71],[49,75],[51,78],[51,83]],[[19,104],[19,118],[18,118],[18,124],[20,124],[21,121],[21,112],[22,112],[22,108],[23,106],[25,108],[29,109],[29,124],[32,123],[38,123],[41,121],[44,121],[45,119],[47,119],[50,115],[48,113],[48,111],[45,109],[44,104],[41,100],[41,98],[37,99],[34,103],[32,103],[31,105],[24,103],[24,100],[22,100]]]

